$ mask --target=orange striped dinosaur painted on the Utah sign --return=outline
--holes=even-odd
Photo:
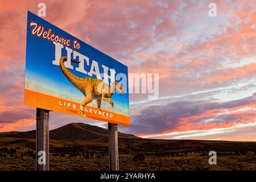
[[[114,91],[117,91],[119,94],[123,95],[123,86],[118,82],[113,82],[111,86],[107,85],[103,80],[93,78],[93,77],[84,77],[80,78],[73,73],[69,72],[65,67],[64,62],[67,61],[67,57],[63,56],[60,58],[60,69],[64,75],[72,82],[77,89],[79,89],[85,96],[84,101],[79,107],[78,114],[82,117],[86,117],[86,114],[83,113],[81,107],[84,109],[85,105],[92,102],[92,100],[97,100],[98,111],[101,111],[101,100],[108,101],[112,107],[114,102],[111,100]],[[80,61],[71,60],[74,63],[80,63]],[[106,118],[105,114],[102,114]]]

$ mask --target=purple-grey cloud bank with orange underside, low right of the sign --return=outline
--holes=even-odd
[[[256,120],[253,96],[228,102],[176,101],[148,106],[131,117],[130,128],[122,131],[137,135],[174,131],[209,130],[231,127]]]

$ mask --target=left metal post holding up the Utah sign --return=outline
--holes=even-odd
[[[36,171],[49,170],[49,110],[36,108]]]

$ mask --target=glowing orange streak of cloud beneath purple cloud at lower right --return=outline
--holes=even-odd
[[[171,130],[165,130],[161,133],[141,133],[138,136],[147,135],[165,135],[174,132],[188,132],[188,131],[200,131],[200,130],[211,130],[218,128],[230,128],[245,123],[256,122],[256,102],[250,104],[242,104],[239,106],[233,106],[223,109],[212,109],[204,111],[198,115],[191,115],[189,117],[183,117],[179,119],[177,127]],[[214,122],[216,115],[232,115],[236,121],[226,120],[225,122]],[[210,119],[209,122],[207,120]],[[206,121],[206,122],[203,122]]]

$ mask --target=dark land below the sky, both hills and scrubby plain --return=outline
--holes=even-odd
[[[36,131],[0,133],[0,170],[35,169]],[[108,170],[108,130],[70,123],[49,131],[50,170]],[[256,142],[143,139],[118,133],[121,170],[256,170]],[[209,165],[209,151],[217,164]]]

